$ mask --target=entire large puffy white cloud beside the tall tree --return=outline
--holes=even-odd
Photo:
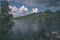
[[[25,16],[29,14],[28,8],[24,5],[19,8],[16,6],[9,6],[9,8],[11,9],[11,14],[13,14],[14,17]]]

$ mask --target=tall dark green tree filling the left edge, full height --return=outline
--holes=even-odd
[[[0,13],[0,40],[11,40],[13,16],[9,14],[9,11],[8,1],[2,1]]]

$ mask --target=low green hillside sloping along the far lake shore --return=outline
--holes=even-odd
[[[27,16],[16,17],[20,20],[36,20],[36,19],[60,19],[60,13],[33,13]]]

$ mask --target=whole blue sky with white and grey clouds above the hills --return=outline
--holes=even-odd
[[[0,0],[2,1],[2,0]],[[14,16],[43,12],[47,9],[55,12],[60,10],[60,0],[8,0],[9,8]]]

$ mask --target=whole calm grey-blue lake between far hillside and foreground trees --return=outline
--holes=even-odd
[[[13,27],[13,40],[23,39],[26,35],[27,40],[31,39],[30,35],[34,32],[40,32],[42,28],[45,28],[47,32],[60,31],[60,21],[58,20],[20,20],[15,19],[15,26]],[[25,35],[24,35],[25,34]],[[28,36],[29,35],[29,36]]]

